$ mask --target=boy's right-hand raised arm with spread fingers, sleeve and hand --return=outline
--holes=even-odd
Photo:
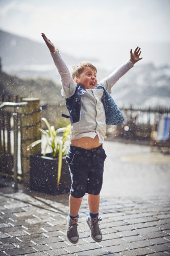
[[[131,49],[130,60],[116,68],[110,75],[108,75],[108,77],[101,80],[99,84],[103,85],[111,93],[111,88],[119,80],[119,78],[126,74],[136,62],[142,59],[139,57],[140,54],[141,51],[139,47],[137,47],[134,52],[132,52]]]

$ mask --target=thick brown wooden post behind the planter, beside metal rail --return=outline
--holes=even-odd
[[[41,128],[40,101],[36,98],[22,98],[22,102],[28,102],[22,108],[21,118],[21,169],[23,183],[30,185],[30,155],[41,152],[41,145],[35,146],[30,151],[27,147],[34,141],[41,139],[39,128]]]

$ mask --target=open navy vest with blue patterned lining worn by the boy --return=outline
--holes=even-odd
[[[104,90],[102,96],[102,103],[105,109],[106,125],[122,125],[124,121],[123,114],[120,112],[119,108],[115,104],[110,93],[101,85],[97,85],[96,88]],[[62,114],[62,116],[70,118],[71,124],[80,121],[81,98],[84,93],[86,93],[86,89],[82,85],[77,84],[74,95],[72,95],[68,99],[65,99],[69,115]]]

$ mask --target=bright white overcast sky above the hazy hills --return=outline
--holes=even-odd
[[[141,46],[143,61],[170,63],[170,0],[0,0],[0,28],[63,52],[114,64]]]

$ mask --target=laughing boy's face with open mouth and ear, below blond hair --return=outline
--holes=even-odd
[[[77,84],[83,85],[86,89],[94,89],[98,83],[96,72],[90,67],[85,67],[80,76],[74,78],[74,81]]]

